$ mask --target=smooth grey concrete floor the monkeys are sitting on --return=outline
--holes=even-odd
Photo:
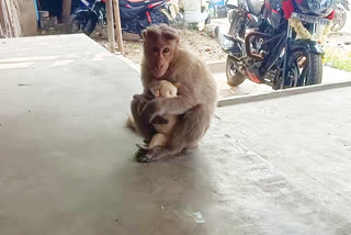
[[[136,71],[82,35],[0,51],[1,235],[351,234],[351,88],[220,108],[141,165]]]

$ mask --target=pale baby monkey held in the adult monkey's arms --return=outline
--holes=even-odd
[[[179,83],[172,85],[167,80],[155,80],[149,85],[149,89],[155,98],[172,98],[177,97]],[[154,123],[154,127],[157,133],[152,136],[150,143],[146,146],[137,145],[144,149],[152,149],[156,146],[166,146],[169,141],[169,135],[173,131],[178,121],[177,115],[165,114],[161,116],[167,123]],[[165,122],[163,121],[163,122]]]

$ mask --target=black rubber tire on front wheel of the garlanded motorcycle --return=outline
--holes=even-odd
[[[299,78],[297,87],[301,86],[309,86],[309,85],[318,85],[321,82],[322,78],[322,59],[321,54],[308,53],[302,51],[295,51],[291,54],[290,65],[298,66],[298,58],[305,57],[307,61],[305,61],[305,66],[307,66],[306,78]],[[304,68],[305,69],[305,68]]]

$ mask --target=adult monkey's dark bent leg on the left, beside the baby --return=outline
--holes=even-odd
[[[146,105],[146,103],[147,102],[143,103],[143,101],[140,100],[133,100],[131,109],[132,109],[132,115],[138,132],[148,142],[152,138],[152,135],[155,134],[155,128],[152,124],[149,123],[148,116],[138,114],[138,109],[140,109],[139,105],[141,105],[141,109],[143,109],[144,108],[143,105]]]

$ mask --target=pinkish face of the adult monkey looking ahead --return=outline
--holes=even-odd
[[[147,40],[145,56],[150,72],[156,79],[161,78],[167,72],[170,63],[174,59],[176,47],[176,40]]]

